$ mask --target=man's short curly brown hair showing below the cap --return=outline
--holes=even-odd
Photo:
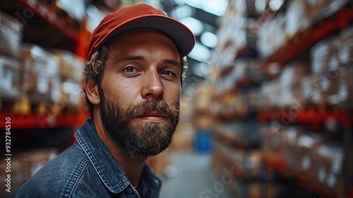
[[[100,47],[98,47],[90,57],[90,60],[86,63],[85,69],[83,70],[83,80],[84,82],[93,81],[93,83],[97,84],[98,87],[101,86],[102,76],[104,72],[105,63],[109,57],[109,54],[112,49],[112,43],[106,42]],[[181,75],[180,81],[181,86],[183,85],[184,78],[186,78],[186,72],[188,70],[188,66],[186,64],[186,57],[180,57],[181,64]],[[85,86],[83,86],[83,91],[85,92]],[[87,93],[85,92],[85,100],[88,105],[88,110],[90,112],[90,116],[93,117],[93,104],[88,100]]]

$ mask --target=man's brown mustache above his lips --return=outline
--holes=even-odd
[[[179,108],[178,108],[179,109]],[[148,98],[143,103],[138,105],[129,106],[126,111],[127,120],[133,117],[140,117],[151,111],[161,112],[166,117],[177,117],[179,116],[179,110],[168,105],[164,100],[155,100]]]

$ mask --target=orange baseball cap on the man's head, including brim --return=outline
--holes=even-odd
[[[189,54],[195,45],[195,36],[184,24],[152,6],[136,4],[120,8],[103,18],[90,37],[87,59],[97,47],[112,37],[140,29],[157,30],[169,36],[177,45],[181,57]]]

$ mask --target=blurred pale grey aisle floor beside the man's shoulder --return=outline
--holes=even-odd
[[[169,167],[168,173],[171,177],[162,177],[161,198],[230,197],[219,185],[221,178],[211,166],[210,154],[171,151],[170,155],[172,168]]]

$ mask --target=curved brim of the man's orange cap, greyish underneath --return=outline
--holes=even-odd
[[[189,54],[195,45],[195,36],[184,24],[167,16],[147,15],[117,25],[95,45],[95,48],[116,35],[141,29],[157,30],[169,36],[177,45],[181,57]]]

